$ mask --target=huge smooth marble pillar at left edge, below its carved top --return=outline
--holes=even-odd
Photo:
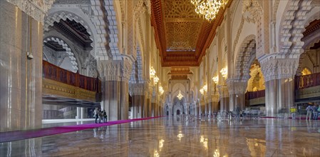
[[[0,36],[0,131],[41,128],[42,24],[0,1]]]

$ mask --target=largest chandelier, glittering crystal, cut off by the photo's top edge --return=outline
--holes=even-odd
[[[203,16],[207,21],[213,21],[219,10],[227,4],[228,0],[191,0],[195,6],[195,12]]]

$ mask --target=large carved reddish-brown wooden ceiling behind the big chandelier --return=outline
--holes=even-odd
[[[227,7],[231,3],[229,0]],[[162,66],[199,66],[222,23],[224,10],[210,23],[195,13],[190,0],[153,0],[151,7]]]

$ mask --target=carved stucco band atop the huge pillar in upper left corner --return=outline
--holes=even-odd
[[[47,14],[55,0],[6,0],[18,6],[29,16],[43,23],[43,17]]]

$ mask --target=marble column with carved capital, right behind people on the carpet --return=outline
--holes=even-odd
[[[102,108],[108,115],[108,121],[128,119],[129,87],[132,61],[98,61],[102,77]]]

